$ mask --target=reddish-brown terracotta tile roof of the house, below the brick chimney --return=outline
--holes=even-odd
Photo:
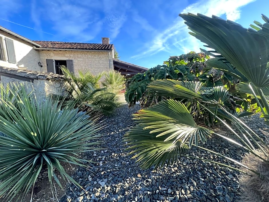
[[[57,41],[33,41],[41,48],[52,49],[74,49],[74,50],[112,50],[113,44],[91,44],[77,42],[57,42]]]

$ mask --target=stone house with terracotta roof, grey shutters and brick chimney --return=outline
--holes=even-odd
[[[55,79],[58,78],[55,74],[62,75],[61,65],[74,73],[79,69],[93,74],[115,69],[127,77],[147,70],[114,59],[114,45],[109,43],[109,38],[102,38],[101,44],[33,41],[0,26],[0,79],[4,85],[26,81],[33,83],[36,90],[49,86],[48,81],[54,85],[60,81],[62,86],[64,79]],[[59,85],[56,85],[57,89]]]

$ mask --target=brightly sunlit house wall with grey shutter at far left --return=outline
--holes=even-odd
[[[6,61],[0,60],[0,66],[22,68],[22,69],[27,67],[27,70],[41,71],[41,67],[37,64],[40,60],[39,53],[38,51],[33,49],[33,46],[34,46],[33,44],[23,41],[1,30],[0,30],[0,36],[2,36],[3,39],[9,38],[13,40],[16,62],[17,62],[16,64],[12,64],[7,61],[7,49],[6,49],[5,41],[3,40],[5,51],[2,54],[5,55]]]

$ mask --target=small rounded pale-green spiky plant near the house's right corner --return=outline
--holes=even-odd
[[[118,94],[124,88],[125,78],[120,72],[110,70],[104,73],[104,79],[101,82],[103,87],[106,87],[108,91]]]

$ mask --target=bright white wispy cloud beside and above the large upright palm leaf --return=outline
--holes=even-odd
[[[240,19],[240,7],[253,1],[256,0],[209,0],[207,3],[198,1],[187,6],[181,13],[201,13],[207,16],[226,15],[227,19],[236,21]],[[134,55],[131,58],[144,58],[160,51],[169,52],[171,46],[176,46],[185,53],[191,50],[199,51],[201,42],[188,34],[188,29],[180,17],[177,17],[171,24],[172,26],[163,30],[147,43],[141,54]]]

